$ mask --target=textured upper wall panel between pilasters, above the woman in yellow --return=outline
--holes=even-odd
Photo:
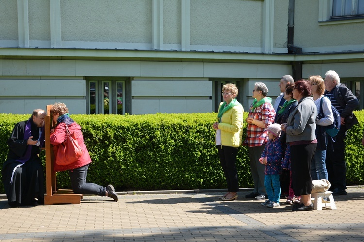
[[[262,8],[263,1],[191,0],[191,49],[261,52]]]

